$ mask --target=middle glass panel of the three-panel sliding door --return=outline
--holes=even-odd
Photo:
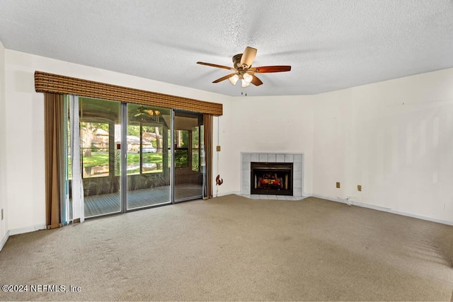
[[[170,109],[127,104],[127,210],[171,203],[170,122]]]

